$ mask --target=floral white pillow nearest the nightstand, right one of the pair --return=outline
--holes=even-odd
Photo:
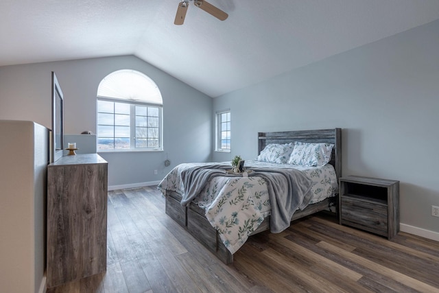
[[[296,141],[288,164],[302,166],[323,166],[331,160],[332,143],[302,143]]]

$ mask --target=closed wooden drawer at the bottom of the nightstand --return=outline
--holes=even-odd
[[[351,196],[341,198],[341,222],[365,231],[388,235],[388,206]]]

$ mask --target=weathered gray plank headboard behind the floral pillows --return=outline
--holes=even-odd
[[[299,131],[278,131],[258,132],[258,154],[269,143],[292,143],[302,141],[307,143],[333,143],[331,161],[334,166],[337,178],[342,176],[342,128],[299,130]]]

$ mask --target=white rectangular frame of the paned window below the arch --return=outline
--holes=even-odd
[[[115,148],[115,145],[113,145],[113,148],[109,149],[100,149],[99,148],[99,101],[106,101],[106,102],[113,102],[113,103],[120,103],[120,104],[129,104],[130,105],[130,148]],[[97,152],[157,152],[157,151],[163,151],[163,105],[160,104],[151,104],[147,102],[139,102],[139,101],[132,101],[129,99],[117,99],[113,97],[97,97],[97,117],[96,117],[96,126],[97,126]],[[151,108],[158,108],[158,147],[153,148],[137,148],[136,147],[136,106],[142,106],[142,107],[151,107]],[[113,115],[116,115],[116,113],[112,113]],[[113,127],[115,127],[115,124],[113,122]],[[115,139],[115,131],[113,131],[112,139]]]

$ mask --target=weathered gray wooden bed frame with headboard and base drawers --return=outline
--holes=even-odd
[[[269,143],[290,143],[293,141],[302,141],[309,143],[333,143],[333,153],[329,162],[335,168],[337,179],[342,176],[342,130],[341,128],[323,129],[323,130],[302,130],[286,132],[259,132],[258,133],[258,154]],[[176,192],[169,192],[166,196],[165,211],[178,224],[186,228],[191,235],[201,244],[208,248],[224,263],[233,262],[233,254],[228,251],[226,246],[221,242],[219,234],[211,226],[204,216],[204,209],[197,204],[191,203],[188,207],[182,207],[180,204],[182,197]],[[307,215],[317,213],[318,211],[327,210],[331,205],[335,205],[338,216],[337,198],[327,198],[315,204],[309,204],[302,211],[294,213],[292,221],[303,218]],[[265,218],[262,224],[255,230],[252,235],[262,231],[270,230],[270,217]]]

